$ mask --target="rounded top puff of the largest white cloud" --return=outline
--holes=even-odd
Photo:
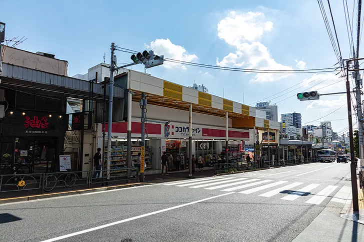
[[[230,45],[237,46],[244,41],[252,42],[273,27],[271,21],[265,21],[262,12],[238,14],[235,11],[217,24],[218,37]]]

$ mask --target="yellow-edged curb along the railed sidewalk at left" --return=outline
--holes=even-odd
[[[128,187],[139,187],[139,186],[145,186],[145,185],[150,185],[150,184],[153,184],[153,183],[131,183],[131,184],[123,184],[123,185],[116,185],[116,186],[109,186],[109,187],[102,187],[102,188],[89,188],[89,189],[65,191],[65,192],[58,192],[58,193],[30,195],[30,196],[14,197],[14,198],[4,198],[4,199],[0,199],[0,204],[32,201],[32,200],[39,200],[39,199],[45,199],[45,198],[55,198],[55,197],[85,194],[85,193],[94,193],[94,192],[115,190],[115,189],[128,188]]]

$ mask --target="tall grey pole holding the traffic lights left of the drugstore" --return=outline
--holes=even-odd
[[[113,71],[114,71],[114,56],[115,43],[111,43],[111,57],[110,57],[110,90],[108,94],[108,127],[107,127],[107,179],[110,177],[110,156],[111,156],[111,126],[112,126],[112,99],[113,99]]]

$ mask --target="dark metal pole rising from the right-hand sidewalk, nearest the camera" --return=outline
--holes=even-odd
[[[354,212],[359,211],[358,197],[357,197],[357,181],[356,181],[356,168],[354,156],[354,139],[352,134],[352,120],[351,120],[351,97],[350,97],[350,82],[349,82],[349,61],[346,61],[346,98],[347,98],[347,119],[349,122],[349,140],[350,140],[350,173],[351,173],[351,192],[352,192],[352,208]]]

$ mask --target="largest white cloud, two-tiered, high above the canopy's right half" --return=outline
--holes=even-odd
[[[235,46],[236,51],[227,54],[216,64],[219,66],[233,66],[248,69],[268,70],[292,70],[290,66],[277,63],[270,55],[268,48],[256,41],[264,32],[272,29],[273,23],[265,20],[262,12],[236,13],[229,15],[217,24],[218,37],[229,45]],[[249,43],[250,42],[250,43]],[[252,81],[270,82],[276,81],[292,74],[282,73],[257,73],[251,78]]]

